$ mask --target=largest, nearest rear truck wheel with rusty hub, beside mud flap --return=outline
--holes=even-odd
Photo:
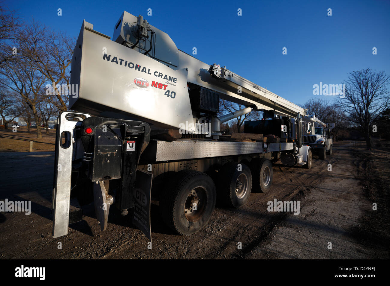
[[[207,174],[183,170],[177,172],[172,187],[161,194],[161,217],[178,234],[191,235],[207,224],[215,200],[215,185]]]

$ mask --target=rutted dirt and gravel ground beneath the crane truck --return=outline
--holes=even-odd
[[[383,173],[376,160],[389,172],[390,152],[363,154],[362,144],[346,143],[337,142],[326,160],[314,156],[309,171],[274,164],[268,193],[252,193],[240,209],[216,207],[206,228],[190,237],[168,230],[153,204],[152,249],[130,216],[115,208],[102,233],[92,205],[83,207],[83,221],[70,225],[67,236],[53,239],[53,152],[0,153],[0,200],[31,200],[32,206],[30,215],[0,213],[0,258],[389,258],[389,176],[378,183]],[[267,211],[275,198],[300,201],[300,214]]]

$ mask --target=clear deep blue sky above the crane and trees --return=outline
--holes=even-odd
[[[9,1],[28,21],[77,37],[83,19],[112,36],[123,11],[141,14],[176,46],[296,104],[313,84],[339,84],[347,72],[390,74],[390,1]],[[57,16],[57,9],[62,16]],[[152,16],[147,16],[147,9]],[[242,16],[237,9],[242,9]],[[328,16],[328,8],[332,16]],[[287,54],[282,48],[287,47]],[[377,54],[372,54],[372,48]],[[321,96],[321,95],[317,95]],[[332,98],[328,96],[328,98]]]

